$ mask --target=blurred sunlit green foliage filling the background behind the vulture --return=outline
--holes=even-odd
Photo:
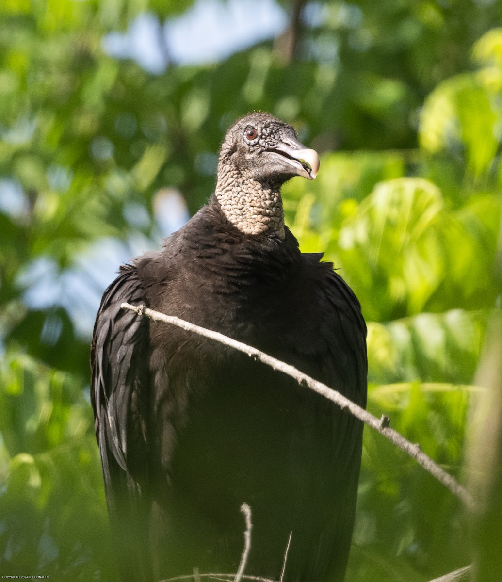
[[[71,291],[40,306],[30,285],[65,281],[105,241],[152,244],[161,188],[195,212],[222,133],[250,109],[293,123],[322,154],[316,182],[285,187],[285,214],[362,303],[369,409],[452,474],[469,471],[476,368],[500,305],[502,2],[306,3],[291,62],[274,41],[210,65],[167,55],[158,75],[105,54],[105,35],[144,10],[161,30],[192,4],[0,3],[2,574],[116,576],[89,338]],[[102,292],[100,272],[88,279]],[[348,582],[425,582],[486,556],[485,542],[457,499],[366,431]]]

